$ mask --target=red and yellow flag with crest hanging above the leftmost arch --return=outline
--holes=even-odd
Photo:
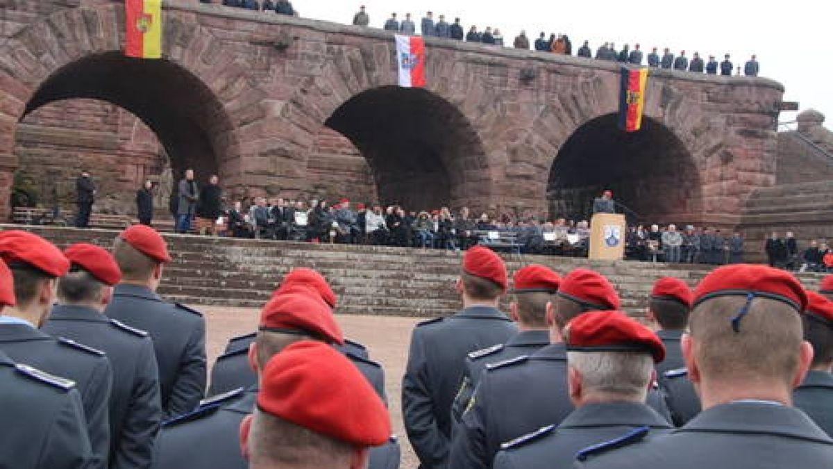
[[[125,0],[124,54],[162,58],[162,0]]]

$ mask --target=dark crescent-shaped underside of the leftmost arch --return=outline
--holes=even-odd
[[[202,81],[167,60],[140,60],[111,52],[58,69],[27,103],[33,110],[62,99],[88,98],[125,108],[157,135],[175,179],[187,168],[197,179],[221,174],[233,144],[232,124]]]

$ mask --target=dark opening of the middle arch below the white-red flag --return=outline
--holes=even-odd
[[[325,125],[367,159],[382,204],[459,207],[488,190],[476,131],[453,104],[424,89],[388,86],[359,93]]]

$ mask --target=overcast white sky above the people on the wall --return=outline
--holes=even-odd
[[[787,101],[798,101],[801,110],[815,108],[828,117],[833,129],[833,58],[826,46],[830,16],[822,0],[789,2],[751,2],[749,0],[697,0],[668,2],[586,1],[552,2],[545,0],[293,0],[293,6],[306,18],[350,23],[361,4],[367,5],[371,25],[381,28],[392,12],[399,17],[412,13],[419,30],[419,18],[427,9],[461,17],[466,31],[474,24],[500,28],[506,43],[521,29],[535,38],[539,33],[566,33],[577,50],[589,40],[594,52],[600,43],[613,41],[640,43],[643,50],[656,46],[686,56],[722,58],[731,53],[735,66],[743,65],[752,53],[761,63],[761,76],[784,84]],[[578,44],[578,45],[576,45]],[[430,53],[430,51],[428,52]],[[781,113],[781,121],[795,119],[795,113]]]

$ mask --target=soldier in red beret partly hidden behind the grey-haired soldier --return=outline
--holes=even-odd
[[[566,386],[566,348],[561,330],[578,315],[617,310],[613,285],[591,270],[573,270],[561,282],[554,309],[547,314],[552,344],[531,356],[486,366],[462,421],[454,432],[449,467],[486,468],[501,443],[558,424],[573,410]],[[661,396],[652,404],[667,413]]]

